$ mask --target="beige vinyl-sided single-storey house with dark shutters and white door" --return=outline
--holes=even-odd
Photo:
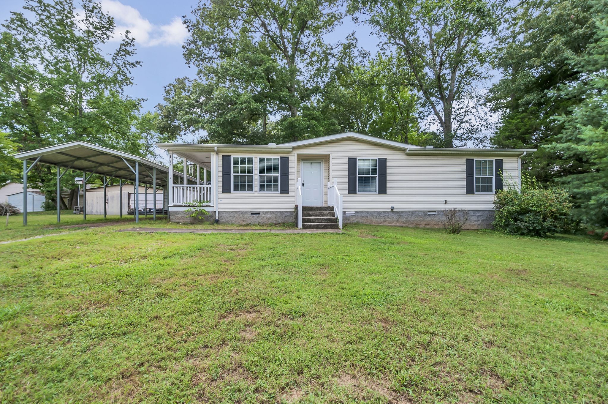
[[[423,148],[358,133],[286,144],[159,144],[209,170],[202,184],[170,178],[170,220],[187,221],[184,195],[211,195],[210,215],[224,223],[305,226],[319,217],[342,223],[441,226],[444,209],[469,212],[468,228],[488,228],[497,189],[519,184],[521,157],[534,150]],[[189,162],[189,163],[188,163]],[[171,167],[170,167],[171,169]],[[207,175],[207,171],[205,171]],[[500,175],[499,175],[500,173]],[[171,177],[171,171],[170,171]],[[203,191],[204,190],[204,191]],[[316,212],[314,214],[307,212]],[[320,213],[320,212],[327,212]],[[314,228],[314,227],[313,227]]]

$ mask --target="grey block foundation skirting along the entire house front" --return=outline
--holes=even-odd
[[[429,215],[429,211],[354,211],[354,215],[343,212],[344,224],[361,223],[365,225],[397,225],[411,227],[443,228],[443,211]],[[170,220],[177,223],[196,223],[184,211],[171,211]],[[215,212],[210,211],[204,218],[206,222],[215,220]],[[469,219],[464,229],[489,229],[494,220],[494,211],[469,211]],[[202,221],[202,220],[201,220]],[[294,211],[260,211],[252,215],[250,211],[219,211],[219,223],[226,225],[294,223]]]

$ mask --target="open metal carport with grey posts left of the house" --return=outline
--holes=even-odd
[[[17,153],[15,158],[23,161],[23,189],[27,197],[27,173],[35,164],[47,164],[57,167],[57,201],[61,198],[61,177],[67,170],[77,170],[83,172],[83,220],[86,220],[86,181],[92,175],[103,176],[103,192],[105,199],[105,187],[109,180],[116,178],[122,182],[130,181],[133,184],[150,184],[164,188],[163,195],[168,192],[169,169],[164,165],[147,160],[145,158],[130,155],[129,153],[119,152],[107,147],[94,145],[88,142],[69,142],[55,146],[38,148],[29,152]],[[33,161],[28,165],[29,161]],[[174,173],[181,176],[180,173]],[[195,179],[188,176],[190,179]],[[182,178],[183,180],[183,178]],[[134,187],[135,193],[135,222],[139,222],[139,186]],[[25,198],[25,197],[24,197]],[[122,193],[121,193],[122,198]],[[163,197],[163,206],[164,206]],[[25,203],[25,201],[24,201]],[[122,209],[122,204],[121,204]],[[164,209],[163,209],[164,210]],[[121,211],[122,215],[122,211]],[[103,217],[106,217],[106,207],[103,209]],[[156,220],[156,192],[154,192],[153,218]],[[57,221],[61,221],[61,204],[57,203]],[[27,225],[27,212],[23,212],[23,224]]]

